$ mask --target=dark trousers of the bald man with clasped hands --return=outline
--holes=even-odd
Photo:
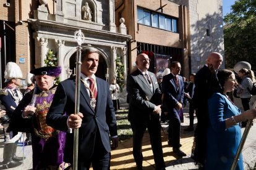
[[[165,168],[161,142],[161,124],[159,121],[159,117],[158,119],[151,118],[147,122],[141,121],[140,123],[134,123],[133,121],[130,121],[130,125],[132,126],[133,132],[133,155],[137,167],[142,167],[142,138],[143,134],[148,128],[156,169]]]

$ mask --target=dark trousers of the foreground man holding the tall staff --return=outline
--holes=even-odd
[[[93,155],[90,159],[86,160],[79,158],[78,169],[89,170],[92,164],[93,169],[108,170],[110,169],[110,157],[110,153],[105,150],[101,142],[100,132],[97,131]]]

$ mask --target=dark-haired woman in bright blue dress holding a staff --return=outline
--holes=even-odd
[[[233,71],[220,70],[217,76],[222,89],[208,99],[210,124],[207,129],[206,169],[220,170],[231,168],[241,141],[239,122],[254,119],[256,110],[241,113],[228,98],[227,92],[233,91],[237,84]],[[244,169],[242,154],[236,169]]]

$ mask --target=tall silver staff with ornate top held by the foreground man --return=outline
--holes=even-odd
[[[75,73],[75,114],[79,114],[80,108],[80,71],[81,71],[81,44],[85,39],[81,30],[75,31],[75,41],[77,41],[76,73]],[[72,132],[72,129],[71,131]],[[74,153],[73,153],[73,170],[78,166],[78,147],[79,147],[79,129],[74,129]]]

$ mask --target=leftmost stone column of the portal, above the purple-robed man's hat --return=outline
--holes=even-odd
[[[35,68],[43,67],[45,65],[46,54],[48,51],[47,45],[47,38],[36,38],[36,49],[38,49],[38,51],[36,52]]]

